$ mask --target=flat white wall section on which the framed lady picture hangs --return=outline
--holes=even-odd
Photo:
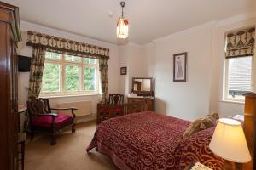
[[[156,110],[194,120],[209,111],[212,23],[155,41]],[[188,53],[188,81],[173,82],[173,54]]]

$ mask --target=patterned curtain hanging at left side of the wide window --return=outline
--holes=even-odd
[[[32,49],[32,61],[29,75],[29,89],[28,99],[34,97],[38,98],[41,87],[42,77],[44,71],[44,60],[45,60],[45,48],[33,48]]]

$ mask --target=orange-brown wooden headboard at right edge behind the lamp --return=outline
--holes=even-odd
[[[244,133],[247,139],[248,148],[252,156],[252,161],[243,164],[242,169],[248,170],[256,168],[256,94],[249,93],[244,95]]]

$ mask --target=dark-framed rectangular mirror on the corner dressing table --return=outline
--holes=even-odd
[[[132,77],[132,92],[135,94],[152,94],[153,77]]]

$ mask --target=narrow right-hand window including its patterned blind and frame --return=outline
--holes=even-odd
[[[255,27],[229,31],[226,34],[224,65],[224,100],[244,101],[243,94],[252,92]]]

